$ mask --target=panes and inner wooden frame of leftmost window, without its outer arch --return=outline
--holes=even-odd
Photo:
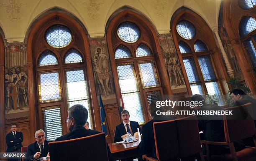
[[[38,31],[34,46],[40,128],[48,140],[67,132],[68,108],[82,104],[92,125],[91,97],[79,32],[68,24],[47,24]],[[42,35],[42,36],[40,36]],[[40,53],[40,51],[42,51]]]

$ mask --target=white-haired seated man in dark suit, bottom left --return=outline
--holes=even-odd
[[[38,130],[35,133],[36,141],[31,143],[27,149],[27,156],[25,161],[29,161],[30,159],[36,159],[47,156],[48,143],[52,141],[45,140],[45,132],[44,130]]]

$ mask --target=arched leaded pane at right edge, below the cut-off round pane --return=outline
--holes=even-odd
[[[245,16],[241,19],[239,24],[239,32],[240,36],[243,37],[246,34],[250,33],[251,31],[255,30],[256,28],[256,20],[255,18]]]

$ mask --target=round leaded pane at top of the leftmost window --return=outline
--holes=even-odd
[[[45,39],[54,48],[64,48],[72,40],[69,28],[62,25],[54,25],[46,30]]]

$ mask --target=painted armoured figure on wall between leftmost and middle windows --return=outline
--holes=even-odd
[[[113,94],[113,88],[111,87],[110,79],[113,78],[111,73],[108,55],[101,53],[101,48],[97,48],[97,53],[93,56],[94,63],[94,77],[97,81],[99,91],[105,96]]]

